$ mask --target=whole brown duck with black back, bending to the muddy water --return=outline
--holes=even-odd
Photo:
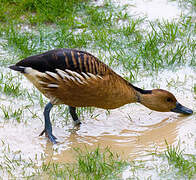
[[[175,96],[162,89],[143,90],[116,74],[90,53],[75,49],[56,49],[27,57],[9,68],[19,71],[42,92],[50,102],[45,106],[45,128],[40,134],[53,143],[50,110],[53,105],[66,104],[75,124],[80,124],[76,107],[94,106],[114,109],[139,102],[161,112],[192,114]]]

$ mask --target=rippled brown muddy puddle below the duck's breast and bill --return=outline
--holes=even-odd
[[[112,116],[112,114],[111,114]],[[145,126],[141,130],[139,125],[138,130],[131,129],[130,122],[127,123],[125,129],[115,131],[113,134],[109,126],[113,126],[113,121],[110,118],[107,119],[107,126],[105,126],[105,131],[100,132],[99,135],[94,135],[93,131],[88,132],[88,125],[84,127],[81,125],[81,129],[70,133],[68,137],[65,137],[65,143],[69,144],[67,150],[61,151],[61,153],[53,154],[53,157],[60,162],[72,161],[73,148],[80,147],[88,149],[94,149],[97,146],[101,148],[110,147],[113,152],[121,153],[125,159],[133,159],[141,155],[145,155],[148,151],[154,151],[155,148],[163,150],[166,148],[165,140],[169,144],[173,144],[177,141],[179,127],[184,124],[184,121],[188,120],[188,117],[177,117],[175,115],[170,115],[170,117],[163,119],[163,121],[158,124]],[[192,121],[191,119],[189,119]],[[109,121],[109,122],[108,122]],[[102,124],[104,122],[101,122]],[[122,121],[121,121],[122,123]],[[134,122],[131,122],[131,124]],[[91,129],[92,124],[89,125]],[[97,123],[94,125],[94,129],[99,130],[99,127],[103,130],[102,126]],[[95,131],[96,131],[95,130]],[[64,146],[62,143],[60,146]],[[70,156],[71,155],[71,156]]]

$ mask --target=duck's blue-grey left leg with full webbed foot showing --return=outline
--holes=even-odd
[[[42,136],[44,133],[49,138],[49,140],[56,144],[56,137],[52,134],[52,125],[50,122],[50,110],[52,109],[53,104],[49,102],[44,109],[44,118],[45,118],[45,128],[41,132],[40,136]]]

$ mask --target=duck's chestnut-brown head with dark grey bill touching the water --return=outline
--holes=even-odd
[[[181,105],[175,96],[162,89],[154,89],[150,93],[142,94],[141,103],[149,109],[160,112],[176,112],[181,114],[192,114],[193,111]]]

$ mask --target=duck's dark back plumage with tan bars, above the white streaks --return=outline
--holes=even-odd
[[[75,49],[56,49],[43,54],[27,57],[16,66],[31,67],[40,72],[56,72],[55,69],[69,69],[78,73],[104,75],[110,68],[95,56]]]

